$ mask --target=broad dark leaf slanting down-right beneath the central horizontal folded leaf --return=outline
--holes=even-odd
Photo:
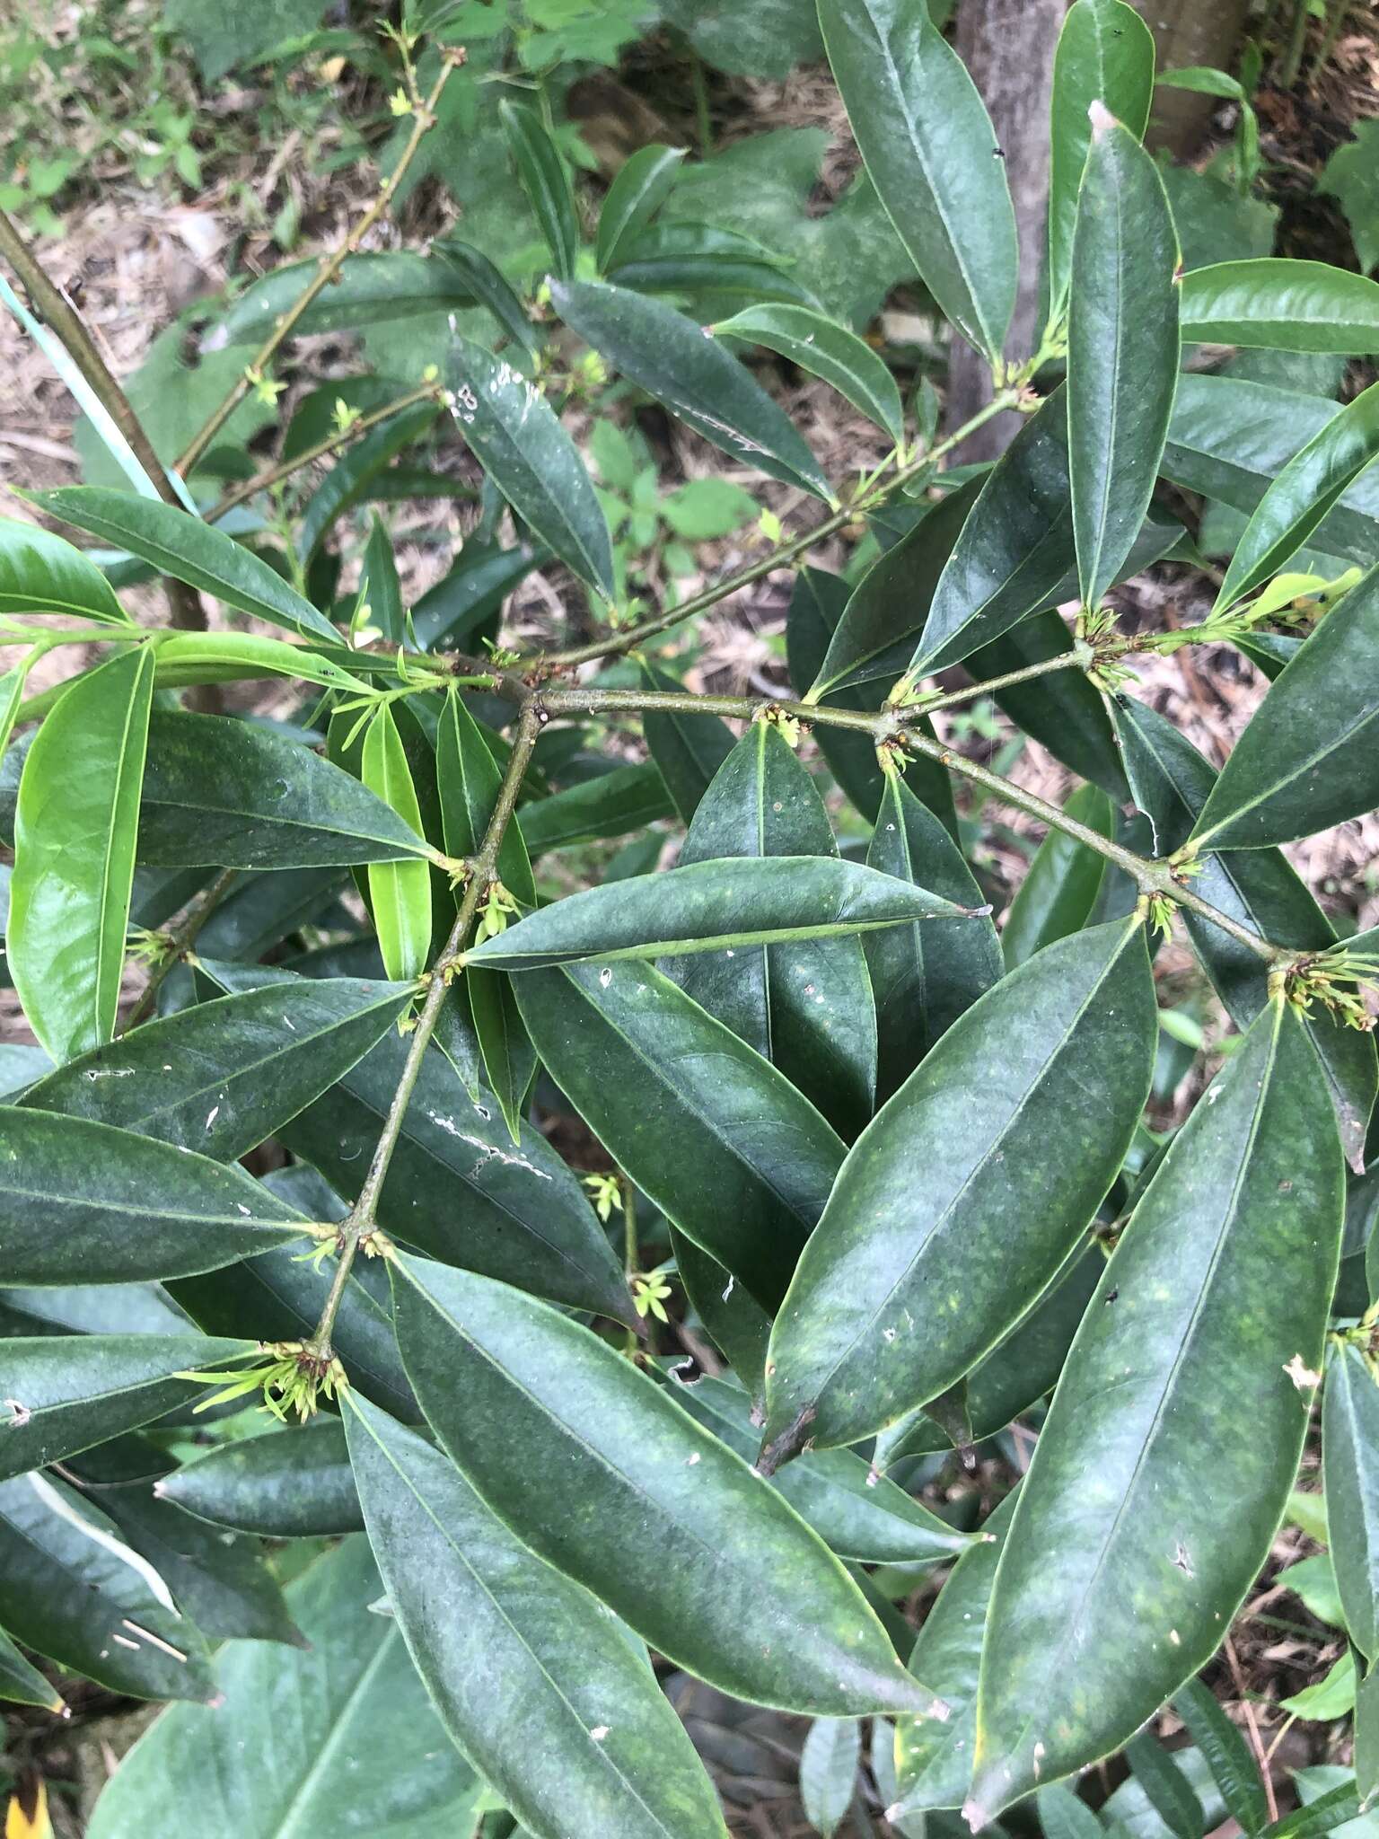
[[[774,1309],[842,1144],[807,1098],[645,964],[515,978],[550,1076],[666,1217]]]

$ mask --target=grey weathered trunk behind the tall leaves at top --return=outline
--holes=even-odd
[[[958,51],[973,74],[1006,154],[1006,177],[1020,232],[1020,285],[1015,296],[1006,351],[1026,359],[1039,338],[1044,217],[1048,210],[1048,97],[1054,83],[1054,46],[1066,0],[963,0],[958,9]],[[991,401],[986,359],[963,340],[952,340],[949,362],[949,428],[962,427]],[[1015,414],[997,416],[954,454],[956,460],[995,460],[1020,425]]]

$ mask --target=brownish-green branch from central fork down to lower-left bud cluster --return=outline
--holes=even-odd
[[[335,1317],[340,1313],[340,1300],[344,1296],[346,1284],[349,1282],[349,1271],[355,1263],[355,1256],[359,1254],[360,1241],[368,1238],[377,1225],[382,1182],[388,1175],[393,1151],[397,1149],[397,1138],[403,1135],[406,1107],[412,1103],[412,1092],[421,1078],[423,1056],[432,1034],[436,1032],[436,1022],[439,1021],[441,1008],[445,1004],[449,977],[465,949],[469,929],[478,916],[478,908],[489,890],[489,883],[498,872],[498,850],[502,848],[502,839],[513,820],[517,796],[522,791],[526,769],[531,765],[531,748],[537,745],[541,726],[542,721],[537,708],[528,702],[517,723],[513,750],[507,756],[507,771],[504,772],[502,785],[498,787],[498,798],[493,805],[489,828],[484,831],[484,842],[480,844],[478,855],[469,862],[469,881],[465,883],[465,892],[460,901],[460,912],[450,927],[450,936],[441,947],[441,954],[430,967],[427,1000],[421,1004],[417,1024],[412,1030],[406,1061],[403,1063],[403,1074],[388,1105],[382,1133],[373,1148],[373,1159],[370,1162],[368,1175],[364,1177],[364,1186],[359,1190],[359,1199],[340,1225],[340,1254],[335,1262],[331,1289],[325,1296],[316,1333],[309,1342],[309,1350],[320,1359],[329,1361],[333,1357],[331,1333],[335,1330]]]

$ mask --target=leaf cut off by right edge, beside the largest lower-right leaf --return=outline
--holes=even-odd
[[[1372,1661],[1379,1653],[1379,1381],[1353,1344],[1337,1348],[1326,1368],[1322,1458],[1346,1629]]]

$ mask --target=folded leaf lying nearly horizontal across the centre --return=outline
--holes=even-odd
[[[963,912],[862,862],[813,855],[715,857],[568,894],[474,945],[465,964],[539,971],[587,958],[673,958],[842,938],[919,920],[958,920]]]

